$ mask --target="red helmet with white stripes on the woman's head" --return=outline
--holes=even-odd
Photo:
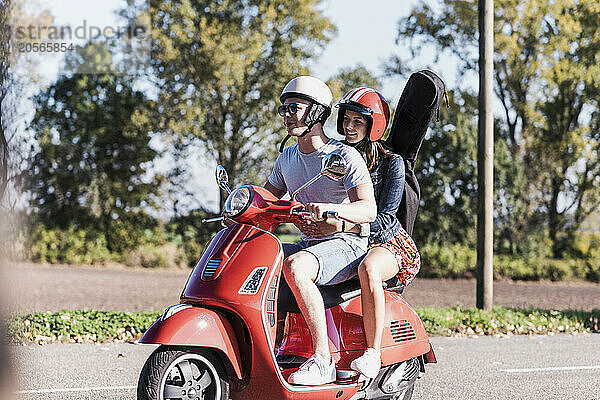
[[[376,90],[360,87],[352,89],[336,104],[338,112],[337,128],[340,135],[344,134],[344,114],[346,110],[362,114],[367,120],[367,135],[375,142],[383,136],[390,120],[390,107]]]

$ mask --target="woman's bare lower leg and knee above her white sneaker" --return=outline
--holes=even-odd
[[[363,324],[367,347],[380,350],[385,319],[385,297],[382,282],[398,273],[398,262],[391,251],[374,247],[358,266],[361,286]]]

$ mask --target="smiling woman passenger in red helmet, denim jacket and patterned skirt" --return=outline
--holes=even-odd
[[[339,108],[337,130],[365,158],[377,200],[369,251],[358,266],[367,350],[350,365],[375,378],[381,367],[385,321],[382,282],[396,276],[400,284],[408,285],[419,272],[421,260],[414,241],[396,218],[404,191],[404,161],[379,142],[390,117],[387,102],[373,89],[357,88],[348,92],[336,107]],[[349,230],[345,223],[335,221],[322,223],[316,229],[318,235],[324,235],[331,234],[332,229],[357,232],[358,226]]]

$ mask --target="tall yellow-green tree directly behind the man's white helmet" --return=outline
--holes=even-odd
[[[232,186],[264,181],[283,132],[281,90],[308,73],[308,59],[335,32],[319,3],[149,1],[160,130],[186,147],[200,143]],[[138,11],[130,5],[123,14]]]

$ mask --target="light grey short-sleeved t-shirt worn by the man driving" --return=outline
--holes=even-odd
[[[347,146],[335,139],[329,141],[312,153],[304,154],[298,150],[298,145],[286,147],[277,157],[275,166],[269,176],[269,183],[279,190],[285,190],[290,195],[311,178],[321,172],[323,158],[329,153],[338,153],[346,162],[346,174],[340,181],[331,180],[325,176],[302,190],[296,200],[307,203],[349,203],[348,190],[355,186],[371,183],[371,176],[360,153],[353,147]],[[366,238],[352,233],[335,233],[318,240],[340,237],[366,248]],[[310,236],[301,235],[302,240],[315,240]]]

